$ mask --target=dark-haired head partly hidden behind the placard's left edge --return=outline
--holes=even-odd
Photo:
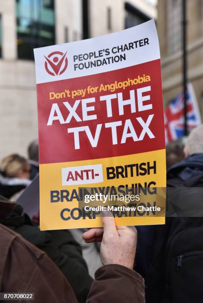
[[[39,143],[38,140],[32,141],[27,149],[28,161],[31,165],[30,180],[33,180],[39,173]]]

